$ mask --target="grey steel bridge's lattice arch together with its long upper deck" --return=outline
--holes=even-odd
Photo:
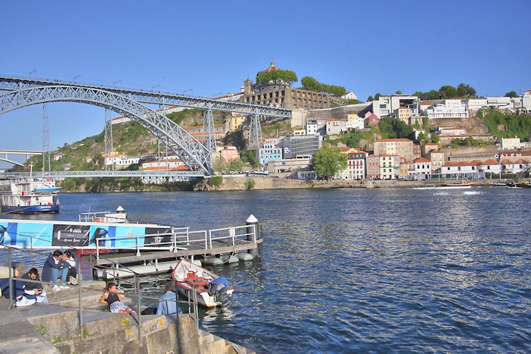
[[[127,116],[145,127],[164,142],[190,170],[211,175],[212,151],[191,136],[188,131],[146,104],[177,105],[202,110],[241,112],[255,116],[288,118],[291,110],[186,97],[169,92],[144,92],[106,86],[93,86],[58,80],[24,79],[0,76],[0,114],[29,105],[48,102],[75,102],[97,105]]]

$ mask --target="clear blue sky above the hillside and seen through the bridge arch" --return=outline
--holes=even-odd
[[[1,12],[3,75],[213,97],[274,61],[362,101],[461,82],[481,96],[531,89],[528,0],[6,1]],[[42,105],[0,119],[0,149],[42,149]],[[50,103],[50,147],[104,122],[102,108]]]

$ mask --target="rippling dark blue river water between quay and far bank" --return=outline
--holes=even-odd
[[[59,214],[29,218],[122,205],[208,229],[253,214],[264,252],[215,268],[234,305],[201,310],[200,326],[257,353],[530,353],[530,200],[486,186],[60,194]]]

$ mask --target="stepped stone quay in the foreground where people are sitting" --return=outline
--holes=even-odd
[[[35,303],[9,309],[9,299],[0,298],[0,354],[254,353],[201,329],[197,333],[195,320],[188,314],[179,316],[178,333],[175,316],[142,315],[139,337],[136,317],[112,314],[107,305],[99,303],[104,281],[82,281],[81,340],[79,288],[53,292],[51,286],[44,286],[49,305]],[[132,299],[124,302],[130,305]]]

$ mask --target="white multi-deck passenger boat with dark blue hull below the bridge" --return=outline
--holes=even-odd
[[[15,214],[57,213],[60,189],[51,178],[2,179],[1,210]]]

